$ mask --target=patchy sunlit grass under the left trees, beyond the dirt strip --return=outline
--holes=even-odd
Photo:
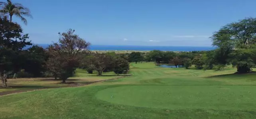
[[[121,75],[122,76],[122,75]],[[55,80],[54,78],[17,78],[8,79],[9,88],[1,88],[0,92],[14,91],[14,90],[28,90],[28,89],[41,89],[41,88],[59,88],[63,86],[69,86],[69,83],[73,84],[87,84],[90,82],[108,80],[111,78],[117,78],[114,72],[104,72],[103,76],[97,76],[97,72],[88,74],[86,70],[77,69],[75,76],[67,80],[67,84],[61,84],[61,80]]]

